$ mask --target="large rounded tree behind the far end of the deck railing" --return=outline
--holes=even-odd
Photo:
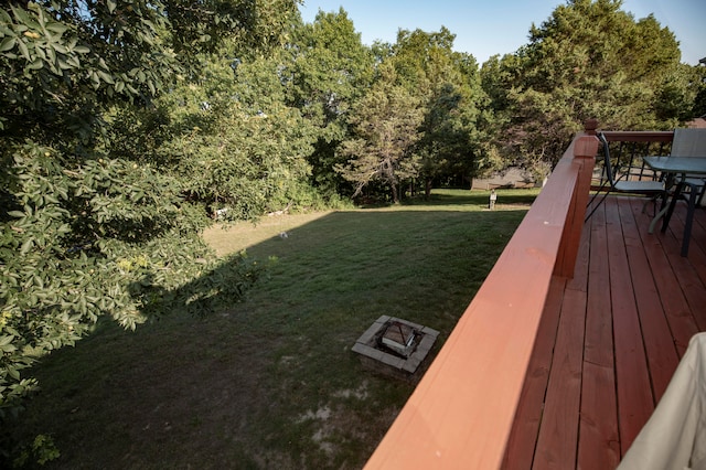
[[[512,117],[504,133],[515,163],[554,164],[588,118],[613,129],[670,128],[678,121],[681,111],[673,107],[656,113],[660,96],[673,96],[670,87],[677,83],[670,78],[678,74],[674,34],[654,17],[635,22],[620,7],[619,0],[557,7],[494,72],[509,92],[485,82],[499,99],[495,107]]]

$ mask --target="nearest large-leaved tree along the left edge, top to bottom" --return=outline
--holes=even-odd
[[[201,51],[228,38],[263,53],[281,43],[296,6],[42,0],[0,10],[0,428],[36,387],[26,367],[99,317],[135,328],[173,310],[206,314],[257,278],[245,258],[218,260],[199,238],[207,218],[184,179],[111,150],[138,130],[115,116],[154,110],[176,77],[193,76]]]

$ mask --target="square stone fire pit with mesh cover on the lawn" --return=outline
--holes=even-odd
[[[375,372],[415,381],[438,335],[431,328],[382,316],[357,339],[353,352]]]

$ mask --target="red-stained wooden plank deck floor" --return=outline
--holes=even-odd
[[[706,331],[706,210],[688,257],[685,213],[680,203],[667,232],[651,235],[651,207],[609,196],[586,224],[574,279],[552,282],[503,468],[618,464]]]

